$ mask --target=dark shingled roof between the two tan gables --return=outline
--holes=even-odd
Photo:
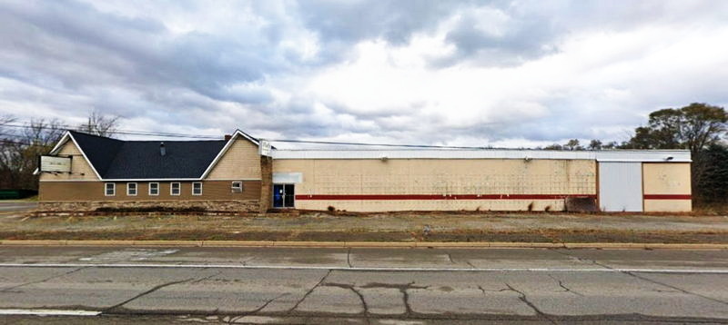
[[[226,141],[122,141],[70,131],[104,179],[199,178]],[[166,154],[159,151],[165,143]]]

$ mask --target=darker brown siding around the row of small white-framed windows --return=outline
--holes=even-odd
[[[202,195],[192,195],[192,182],[180,182],[179,195],[170,195],[171,182],[158,182],[159,195],[149,195],[149,182],[136,182],[136,196],[126,195],[126,182],[116,183],[116,195],[104,195],[106,182],[41,182],[40,201],[195,201],[259,200],[260,181],[243,181],[243,192],[230,190],[230,181],[202,182]]]

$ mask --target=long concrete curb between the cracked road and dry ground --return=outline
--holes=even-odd
[[[0,246],[167,246],[291,248],[537,248],[612,250],[728,250],[728,244],[634,242],[497,242],[497,241],[0,241]]]

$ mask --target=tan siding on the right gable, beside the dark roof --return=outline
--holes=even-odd
[[[239,136],[207,175],[207,180],[236,179],[260,179],[258,146]]]

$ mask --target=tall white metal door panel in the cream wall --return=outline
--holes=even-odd
[[[606,212],[642,212],[642,162],[599,162],[599,204]]]

